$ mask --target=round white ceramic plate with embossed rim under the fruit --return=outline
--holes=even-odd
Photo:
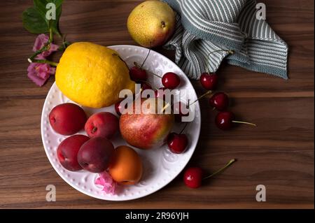
[[[134,62],[141,64],[148,53],[148,49],[134,45],[115,45],[111,46],[110,48],[116,50],[120,54],[120,57],[122,57],[125,62],[127,62],[128,66],[132,66]],[[174,64],[174,62],[167,59],[167,57],[160,55],[158,52],[151,51],[144,69],[154,72],[160,76],[171,71],[177,73],[181,77],[181,86],[179,89],[187,89],[188,98],[190,100],[195,101],[195,99],[197,99],[195,90],[186,75],[183,73],[183,71],[181,71],[181,69],[179,69],[178,66],[176,66],[176,64]],[[157,78],[154,75],[149,75],[148,81],[153,83],[153,86],[155,87],[162,87],[160,78]],[[188,124],[188,127],[185,131],[190,141],[186,152],[183,154],[173,154],[169,151],[167,145],[163,145],[162,148],[148,151],[136,149],[137,152],[139,152],[144,164],[144,175],[141,179],[141,182],[133,186],[119,186],[118,194],[105,194],[102,192],[101,187],[94,185],[94,180],[97,178],[96,173],[89,173],[87,171],[67,171],[59,164],[59,161],[57,160],[57,146],[64,140],[64,138],[66,138],[66,136],[56,134],[55,131],[52,130],[48,122],[48,114],[52,108],[59,105],[60,103],[66,102],[73,103],[73,101],[66,98],[66,96],[64,96],[62,92],[59,91],[56,84],[54,83],[45,99],[43,112],[41,115],[41,136],[43,140],[43,146],[45,148],[47,157],[52,164],[52,167],[55,168],[55,171],[57,171],[64,181],[66,181],[69,185],[71,185],[71,187],[77,189],[78,191],[87,194],[88,196],[93,196],[97,199],[108,201],[127,201],[139,199],[143,196],[147,196],[148,194],[152,194],[153,192],[157,192],[159,189],[165,187],[165,185],[176,178],[179,173],[181,173],[183,168],[190,160],[190,157],[193,155],[198,138],[200,136],[200,106],[199,103],[195,103],[195,120]],[[83,109],[87,115],[92,115],[93,113],[101,111],[109,111],[113,114],[116,114],[113,106],[102,109]],[[183,125],[183,123],[176,124],[174,131],[179,132],[183,128]],[[78,134],[85,134],[85,132],[80,131]],[[127,143],[120,136],[114,138],[112,143],[114,146],[127,145]]]

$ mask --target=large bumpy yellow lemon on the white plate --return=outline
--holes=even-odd
[[[113,105],[121,100],[122,89],[134,92],[135,85],[118,52],[87,42],[73,43],[66,48],[55,78],[65,96],[90,108]]]

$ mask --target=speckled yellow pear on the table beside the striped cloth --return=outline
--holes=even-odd
[[[166,43],[174,34],[174,10],[162,1],[144,1],[128,17],[130,35],[140,45],[154,48]]]

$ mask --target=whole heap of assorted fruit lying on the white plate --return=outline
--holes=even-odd
[[[118,132],[129,145],[141,150],[159,148],[165,143],[176,154],[186,150],[186,135],[171,133],[175,120],[181,120],[183,114],[175,116],[174,113],[157,113],[155,110],[161,101],[164,106],[171,106],[165,101],[163,89],[179,87],[181,78],[176,73],[165,73],[161,77],[164,87],[158,90],[151,87],[146,78],[137,77],[137,72],[148,75],[142,68],[133,67],[130,70],[118,52],[101,45],[73,43],[66,49],[57,67],[56,84],[76,104],[59,104],[50,110],[48,117],[50,126],[57,134],[69,136],[57,148],[57,159],[64,168],[99,175],[109,173],[112,180],[120,185],[137,184],[144,168],[141,157],[130,146],[114,148],[111,140]],[[141,83],[142,87],[135,94],[132,85],[136,82]],[[139,101],[141,107],[143,103],[151,102],[155,104],[154,108],[149,113],[148,110],[146,113],[142,110],[135,113],[138,93],[152,88],[155,89],[154,96]],[[124,112],[127,109],[121,108],[123,99],[119,99],[118,94],[123,89],[134,94],[130,112]],[[113,104],[117,114],[102,112],[87,117],[83,109],[104,108]],[[86,135],[78,134],[82,129]]]

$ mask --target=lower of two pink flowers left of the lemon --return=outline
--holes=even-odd
[[[27,68],[27,76],[38,86],[43,86],[51,74],[55,74],[56,69],[49,64],[31,63]]]

